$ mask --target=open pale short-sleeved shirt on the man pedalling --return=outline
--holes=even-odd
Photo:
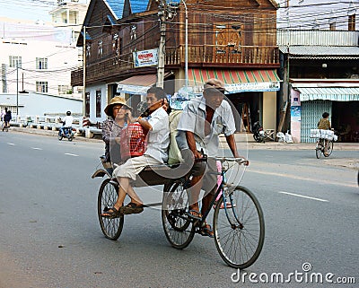
[[[185,131],[192,132],[195,135],[197,151],[204,150],[208,156],[215,157],[218,155],[219,136],[232,135],[236,131],[232,109],[227,100],[223,100],[220,107],[215,109],[211,122],[211,131],[205,136],[206,121],[206,99],[203,96],[196,97],[188,102],[180,116],[179,136],[182,141],[178,141],[180,149],[188,148],[185,141]],[[184,137],[184,138],[183,138]],[[187,145],[187,146],[186,146]]]

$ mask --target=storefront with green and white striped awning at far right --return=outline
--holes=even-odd
[[[311,129],[329,113],[340,142],[359,142],[358,83],[292,83],[291,133],[296,143],[311,143]]]

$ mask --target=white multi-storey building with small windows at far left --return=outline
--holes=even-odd
[[[71,29],[0,22],[0,31],[0,92],[72,94],[78,53]]]

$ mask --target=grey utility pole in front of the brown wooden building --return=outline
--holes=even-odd
[[[158,48],[158,67],[157,67],[157,87],[163,88],[164,79],[164,57],[166,43],[166,2],[161,0],[158,5],[158,15],[160,16],[160,46]]]

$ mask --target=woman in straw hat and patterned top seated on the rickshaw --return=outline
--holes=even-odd
[[[107,162],[118,163],[121,161],[119,134],[123,127],[126,127],[131,121],[131,110],[132,108],[126,104],[126,100],[119,96],[112,98],[105,108],[105,113],[109,118],[102,124],[102,140],[105,142]]]

